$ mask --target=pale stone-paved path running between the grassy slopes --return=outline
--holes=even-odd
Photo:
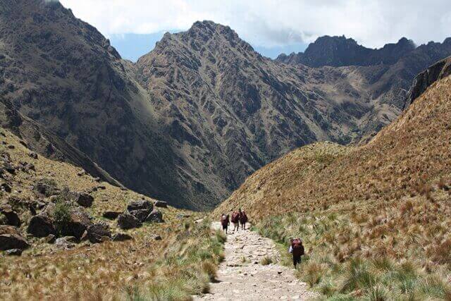
[[[225,247],[226,259],[219,266],[216,283],[210,283],[211,293],[194,300],[309,300],[316,296],[295,278],[293,269],[260,263],[264,257],[275,262],[280,257],[272,240],[254,231],[238,231],[228,235]]]

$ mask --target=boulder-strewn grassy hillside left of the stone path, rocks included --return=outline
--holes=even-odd
[[[186,300],[208,291],[224,239],[208,222],[194,225],[198,214],[36,155],[4,128],[0,141],[1,299]],[[132,225],[147,211],[163,222]]]

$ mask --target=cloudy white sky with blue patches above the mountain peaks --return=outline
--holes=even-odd
[[[401,37],[416,44],[451,36],[451,0],[60,0],[97,27],[125,59],[146,54],[164,32],[197,20],[229,25],[264,56],[304,51],[322,35],[378,48]]]

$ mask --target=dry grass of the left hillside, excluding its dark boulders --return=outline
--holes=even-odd
[[[199,214],[158,208],[165,223],[144,223],[140,228],[121,230],[117,221],[105,219],[102,214],[124,211],[130,200],[154,200],[99,183],[70,164],[39,155],[32,158],[25,145],[8,130],[0,129],[0,155],[17,167],[14,173],[5,171],[6,165],[1,168],[1,184],[7,183],[11,192],[0,192],[0,205],[13,206],[22,221],[18,231],[30,244],[20,257],[0,251],[1,299],[173,300],[208,290],[223,256],[224,238],[211,235],[208,222],[194,225]],[[25,164],[33,164],[35,170],[18,168]],[[70,250],[61,250],[45,242],[45,238],[27,234],[32,216],[27,204],[54,202],[54,198],[40,197],[33,189],[43,180],[58,190],[89,192],[94,202],[85,210],[92,221],[108,223],[113,233],[127,233],[133,240],[99,244],[82,241]],[[160,235],[161,240],[156,240],[155,235]]]

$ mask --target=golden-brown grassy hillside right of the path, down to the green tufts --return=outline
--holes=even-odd
[[[245,209],[329,297],[449,299],[451,78],[369,144],[302,147],[254,173],[214,214]],[[377,299],[377,297],[382,299]]]

